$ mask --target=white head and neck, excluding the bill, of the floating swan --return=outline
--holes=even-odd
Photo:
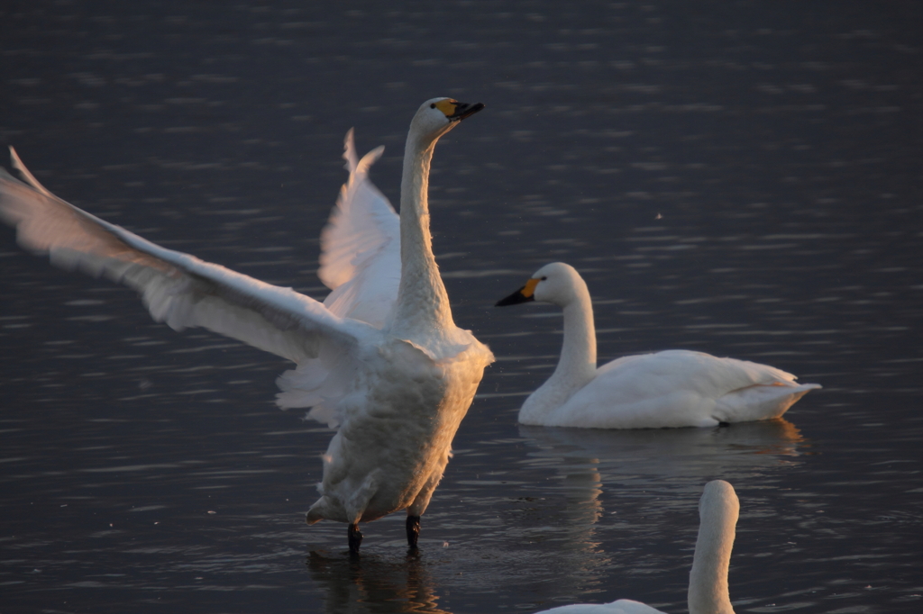
[[[573,266],[552,263],[538,269],[534,300],[564,310],[564,339],[555,372],[522,406],[520,421],[532,423],[560,407],[596,375],[596,327],[586,282]]]

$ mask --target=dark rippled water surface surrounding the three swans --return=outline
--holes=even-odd
[[[438,262],[497,363],[404,554],[308,527],[330,432],[283,360],[151,322],[0,230],[0,612],[686,609],[701,486],[741,515],[737,612],[923,608],[923,8],[916,2],[8,2],[0,141],[174,249],[325,294],[342,136],[397,200],[420,102]],[[823,384],[786,421],[523,428],[581,270],[600,360],[700,349]]]

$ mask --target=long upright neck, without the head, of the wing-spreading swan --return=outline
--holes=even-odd
[[[454,327],[429,232],[429,168],[436,140],[415,136],[412,130],[404,149],[401,284],[391,333],[411,341]]]

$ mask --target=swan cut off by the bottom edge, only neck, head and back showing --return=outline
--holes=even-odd
[[[727,567],[734,547],[740,502],[734,487],[722,479],[705,485],[699,501],[699,537],[692,555],[687,596],[689,614],[734,614],[727,594]],[[575,604],[537,614],[664,614],[631,599],[606,604]]]

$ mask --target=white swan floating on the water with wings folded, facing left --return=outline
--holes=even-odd
[[[564,309],[557,369],[522,404],[519,421],[593,429],[704,427],[778,418],[819,384],[747,360],[686,349],[625,356],[596,368],[593,305],[573,266],[545,265],[497,306],[544,301]]]

